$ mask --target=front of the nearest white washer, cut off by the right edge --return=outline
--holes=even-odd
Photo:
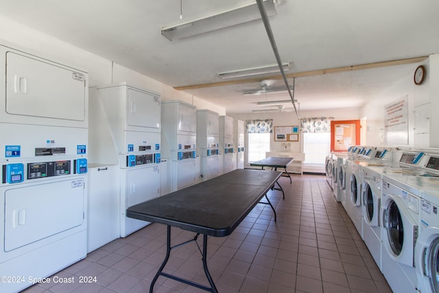
[[[439,180],[436,191],[421,191],[419,235],[415,246],[418,290],[439,292]]]

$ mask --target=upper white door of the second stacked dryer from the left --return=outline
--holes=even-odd
[[[160,131],[160,99],[149,93],[128,89],[128,125]]]

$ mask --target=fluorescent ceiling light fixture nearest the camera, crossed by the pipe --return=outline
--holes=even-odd
[[[268,16],[272,16],[277,13],[276,3],[274,0],[265,0],[263,5]],[[224,27],[254,21],[256,19],[261,19],[261,14],[259,13],[256,1],[250,1],[239,6],[235,6],[229,10],[216,12],[199,17],[197,19],[191,19],[177,25],[162,27],[161,32],[162,35],[169,40],[178,40],[180,38],[204,34],[205,32],[220,30]]]

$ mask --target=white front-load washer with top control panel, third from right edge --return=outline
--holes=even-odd
[[[370,164],[364,163],[363,183],[361,185],[361,200],[363,211],[363,239],[368,247],[370,254],[381,270],[382,246],[381,246],[381,198],[382,198],[382,178],[388,169],[411,169],[419,172],[418,163],[423,157],[423,153],[403,153],[398,155],[393,152],[393,160],[398,157],[399,162],[392,161]]]

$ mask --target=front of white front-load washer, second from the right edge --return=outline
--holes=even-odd
[[[383,176],[381,272],[393,292],[417,292],[414,248],[418,237],[419,190],[407,185],[416,176]]]

